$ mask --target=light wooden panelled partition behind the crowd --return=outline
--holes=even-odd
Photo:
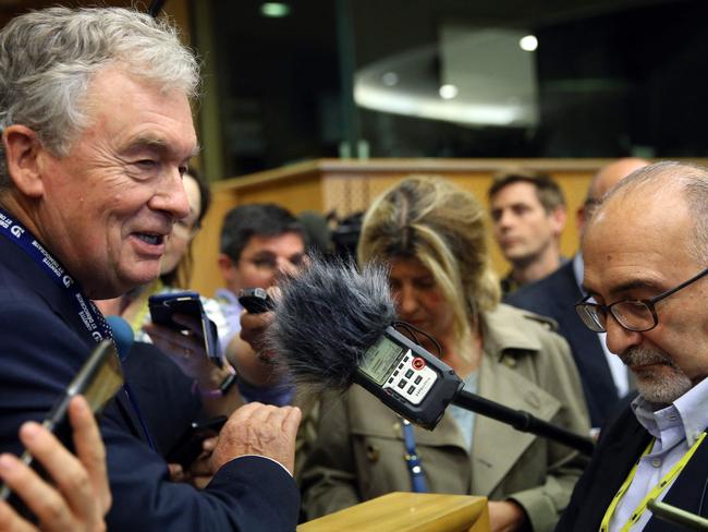
[[[319,159],[277,170],[220,181],[213,185],[213,206],[194,242],[197,266],[193,288],[207,295],[221,286],[216,266],[223,215],[252,202],[274,202],[297,214],[307,209],[334,210],[340,217],[363,210],[386,189],[411,173],[442,176],[472,191],[487,207],[487,190],[498,171],[526,168],[545,171],[565,193],[567,222],[561,251],[572,256],[578,245],[575,213],[583,204],[595,172],[612,159]],[[705,164],[706,161],[698,161]],[[508,264],[490,243],[492,264],[504,275]]]

